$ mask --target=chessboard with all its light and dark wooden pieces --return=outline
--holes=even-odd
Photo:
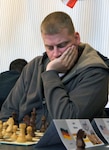
[[[35,119],[36,113],[33,109],[31,117],[26,115],[22,123],[15,123],[15,113],[5,122],[0,120],[0,144],[33,145],[38,143],[46,130],[46,118],[42,117],[40,130],[36,129]]]

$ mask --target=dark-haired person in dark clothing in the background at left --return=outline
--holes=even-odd
[[[0,74],[0,109],[26,64],[25,59],[15,59],[10,63],[9,70]]]

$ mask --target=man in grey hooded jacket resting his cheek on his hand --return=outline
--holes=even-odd
[[[3,104],[0,118],[16,112],[18,122],[36,109],[36,127],[41,117],[51,119],[104,117],[108,95],[108,66],[90,45],[80,43],[71,18],[53,12],[42,21],[46,52],[24,68]]]

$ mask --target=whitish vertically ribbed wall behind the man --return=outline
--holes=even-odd
[[[67,12],[81,41],[109,57],[109,0],[78,0],[73,9],[61,0],[0,0],[0,72],[16,58],[28,61],[45,51],[42,19],[53,11]]]

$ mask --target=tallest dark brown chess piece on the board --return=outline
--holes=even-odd
[[[34,137],[36,131],[36,109],[35,108],[33,108],[33,111],[31,112],[30,126],[32,127],[32,136]]]

